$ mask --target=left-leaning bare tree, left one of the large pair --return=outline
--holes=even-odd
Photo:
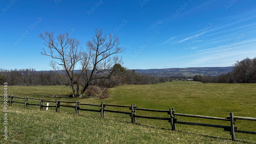
[[[87,57],[82,47],[80,47],[79,40],[69,37],[69,33],[67,32],[65,34],[59,34],[55,38],[54,33],[54,30],[51,32],[45,31],[44,34],[40,33],[38,36],[45,41],[44,44],[49,48],[49,51],[43,48],[41,55],[57,60],[51,60],[50,66],[61,78],[63,83],[72,88],[74,95],[79,95],[78,79],[83,74],[84,68],[82,68],[78,76],[75,76],[74,69],[80,61],[84,61]],[[68,79],[63,77],[61,74],[63,72],[66,73]]]

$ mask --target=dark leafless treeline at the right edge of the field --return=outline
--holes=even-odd
[[[236,61],[233,70],[219,76],[194,76],[195,81],[203,83],[256,83],[256,57]]]

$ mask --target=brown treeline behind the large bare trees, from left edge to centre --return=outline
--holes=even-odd
[[[119,65],[119,64],[118,64]],[[110,75],[110,72],[112,74]],[[118,85],[142,85],[163,83],[167,77],[149,76],[143,73],[136,73],[135,70],[124,68],[121,65],[115,67],[114,70],[102,73],[102,75],[110,75],[109,79],[95,79],[92,83],[102,89],[114,87]],[[76,76],[76,74],[74,74]],[[84,86],[88,74],[83,74],[78,81],[78,85]],[[49,85],[65,85],[69,83],[67,75],[63,72],[56,71],[36,71],[29,69],[0,69],[0,84],[8,82],[8,85],[21,86],[49,86]]]

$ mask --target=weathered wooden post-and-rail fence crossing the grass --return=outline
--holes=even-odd
[[[4,97],[4,96],[0,96]],[[5,96],[6,97],[6,96]],[[253,131],[244,131],[244,130],[237,130],[237,127],[234,127],[234,124],[236,120],[250,120],[250,121],[256,121],[256,118],[251,118],[251,117],[239,117],[239,116],[233,116],[233,113],[230,113],[227,118],[219,118],[219,117],[210,117],[210,116],[200,116],[200,115],[189,115],[189,114],[179,114],[176,113],[174,108],[169,108],[169,110],[162,110],[162,109],[147,109],[147,108],[138,108],[135,106],[135,104],[131,104],[131,106],[128,105],[114,105],[114,104],[105,104],[102,102],[100,105],[97,104],[86,104],[86,103],[79,103],[79,100],[76,100],[76,102],[71,102],[71,101],[59,101],[56,99],[56,101],[48,101],[44,100],[43,98],[32,98],[32,97],[16,97],[13,95],[7,96],[9,98],[9,105],[13,106],[13,103],[21,103],[24,104],[24,108],[28,108],[29,105],[34,105],[34,106],[40,106],[40,110],[44,110],[44,107],[55,107],[56,112],[60,112],[60,107],[71,107],[75,109],[75,114],[79,114],[80,110],[83,111],[91,111],[91,112],[98,112],[101,113],[101,118],[105,118],[105,112],[110,112],[110,113],[119,113],[119,114],[126,114],[131,117],[131,122],[135,123],[135,118],[147,118],[147,119],[159,119],[159,120],[168,120],[170,123],[172,130],[176,130],[176,124],[184,124],[184,125],[194,125],[194,126],[205,126],[205,127],[215,127],[215,128],[223,128],[225,131],[229,131],[232,140],[235,140],[235,132],[239,133],[244,133],[244,134],[253,134],[256,135],[256,132]],[[13,98],[19,98],[19,99],[24,99],[23,102],[15,102],[13,101]],[[29,99],[36,99],[39,100],[39,104],[29,104]],[[0,101],[0,102],[6,102],[6,101]],[[55,106],[45,106],[44,102],[50,102],[50,103],[55,103]],[[6,102],[7,103],[7,102]],[[75,106],[70,106],[70,105],[63,105],[61,103],[74,103]],[[81,105],[88,105],[88,106],[95,106],[95,107],[100,107],[99,110],[97,109],[83,109],[80,108]],[[131,112],[122,112],[122,111],[114,111],[114,110],[106,110],[106,106],[111,106],[111,107],[125,107],[129,108]],[[160,112],[160,113],[167,113],[169,117],[152,117],[152,116],[140,116],[136,115],[137,110],[143,110],[143,111],[150,111],[150,112]],[[191,123],[191,122],[184,122],[184,121],[177,121],[175,118],[176,116],[182,116],[182,117],[193,117],[193,118],[203,118],[203,119],[214,119],[214,120],[222,120],[222,121],[230,121],[230,126],[223,126],[223,125],[212,125],[212,124],[202,124],[202,123]]]

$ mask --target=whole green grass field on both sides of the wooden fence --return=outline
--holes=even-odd
[[[3,95],[3,86],[0,87]],[[195,114],[225,118],[230,112],[234,116],[256,117],[256,84],[203,84],[193,81],[174,81],[150,85],[123,85],[109,89],[110,98],[68,98],[79,99],[82,103],[131,105],[140,108],[166,109],[174,107],[176,113]],[[44,97],[55,100],[52,95],[69,95],[71,90],[63,86],[9,86],[8,94],[19,97]],[[0,98],[2,99],[2,98]],[[58,98],[59,99],[59,98]],[[15,99],[15,101],[21,101]],[[38,103],[29,100],[29,103]],[[24,109],[24,105],[14,103],[8,113],[8,141],[3,143],[256,143],[256,136],[236,133],[231,141],[229,132],[221,128],[176,124],[172,131],[168,121],[136,118],[131,124],[129,115],[105,112],[80,111],[74,115],[73,108],[61,107],[61,112],[40,111],[38,106]],[[55,104],[50,104],[55,105]],[[69,104],[67,104],[69,105]],[[72,104],[71,104],[72,105]],[[3,109],[3,105],[0,105]],[[80,106],[99,109],[100,107]],[[108,107],[105,109],[130,112],[128,108]],[[0,121],[3,121],[3,112]],[[166,113],[137,111],[136,115],[169,117]],[[227,125],[228,121],[176,117],[179,121]],[[3,123],[1,122],[3,127]],[[255,121],[237,120],[239,130],[256,131]],[[1,132],[3,129],[1,128]]]

